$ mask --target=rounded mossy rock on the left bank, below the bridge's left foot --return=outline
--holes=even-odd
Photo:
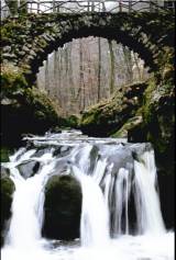
[[[19,89],[3,97],[1,134],[4,145],[15,145],[22,134],[43,134],[58,123],[58,110],[54,102],[36,88]]]

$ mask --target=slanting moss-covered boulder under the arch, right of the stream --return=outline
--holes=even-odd
[[[110,100],[82,113],[80,128],[90,136],[110,136],[119,131],[142,105],[146,82],[121,87]]]

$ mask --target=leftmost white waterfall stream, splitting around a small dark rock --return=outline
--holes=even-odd
[[[43,188],[46,177],[53,170],[53,163],[47,165],[47,159],[52,159],[52,155],[45,154],[40,158],[43,162],[40,173],[25,180],[20,174],[18,166],[20,162],[31,158],[35,150],[29,150],[24,155],[22,152],[23,149],[11,157],[11,162],[9,163],[11,178],[15,184],[15,192],[7,242],[14,248],[28,250],[29,248],[37,248],[41,239],[44,204]],[[21,157],[18,159],[20,155]],[[26,225],[28,219],[30,222]]]

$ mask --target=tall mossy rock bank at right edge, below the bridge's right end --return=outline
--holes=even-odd
[[[129,142],[151,142],[157,167],[174,171],[175,92],[172,79],[153,79],[144,93],[140,113],[143,122],[129,129]]]

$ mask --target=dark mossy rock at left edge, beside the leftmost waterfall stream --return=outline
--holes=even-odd
[[[11,217],[12,195],[14,192],[14,183],[9,178],[6,169],[1,168],[1,246],[4,241],[4,234],[8,221]]]

